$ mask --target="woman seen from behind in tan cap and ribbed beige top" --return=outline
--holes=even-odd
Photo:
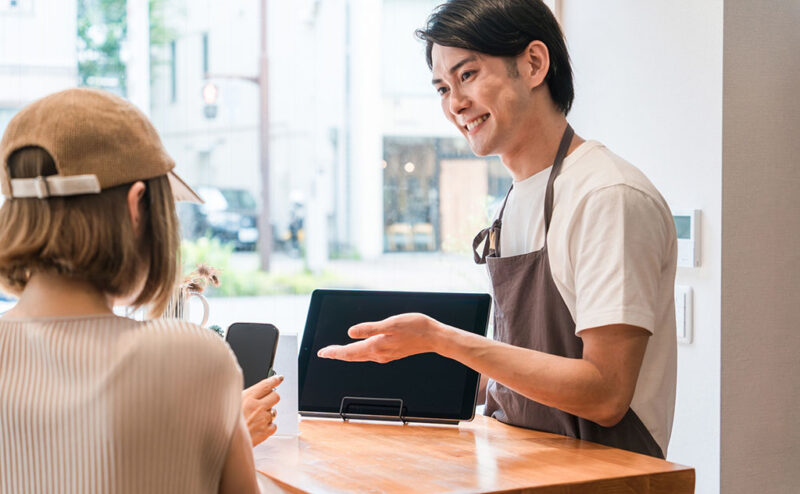
[[[19,297],[0,318],[0,492],[257,492],[224,341],[112,311],[163,312],[174,200],[196,197],[147,118],[103,91],[56,93],[11,120],[0,162],[0,283]],[[251,420],[260,440],[269,415]]]

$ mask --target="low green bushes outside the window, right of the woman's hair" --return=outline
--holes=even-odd
[[[257,269],[232,266],[233,245],[216,238],[184,240],[181,258],[184,272],[198,264],[207,264],[219,271],[220,286],[208,288],[207,295],[217,297],[246,297],[256,295],[307,294],[315,288],[330,286],[338,277],[330,272],[315,275],[308,270],[293,273],[267,273]]]

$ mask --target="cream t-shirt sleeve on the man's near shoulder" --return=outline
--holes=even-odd
[[[569,229],[575,332],[609,324],[655,328],[669,243],[663,206],[628,185],[593,191]]]

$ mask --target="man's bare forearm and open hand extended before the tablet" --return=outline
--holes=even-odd
[[[350,328],[349,335],[362,341],[327,347],[319,355],[389,362],[435,352],[531,400],[610,427],[622,419],[630,406],[649,333],[625,324],[586,329],[580,333],[581,359],[489,340],[422,314],[402,314],[359,324]]]

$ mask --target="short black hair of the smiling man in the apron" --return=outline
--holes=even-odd
[[[541,0],[449,0],[433,11],[416,35],[427,44],[429,68],[433,68],[434,44],[515,57],[531,41],[541,41],[550,53],[545,77],[550,96],[564,115],[572,107],[575,90],[567,45],[558,21]]]

